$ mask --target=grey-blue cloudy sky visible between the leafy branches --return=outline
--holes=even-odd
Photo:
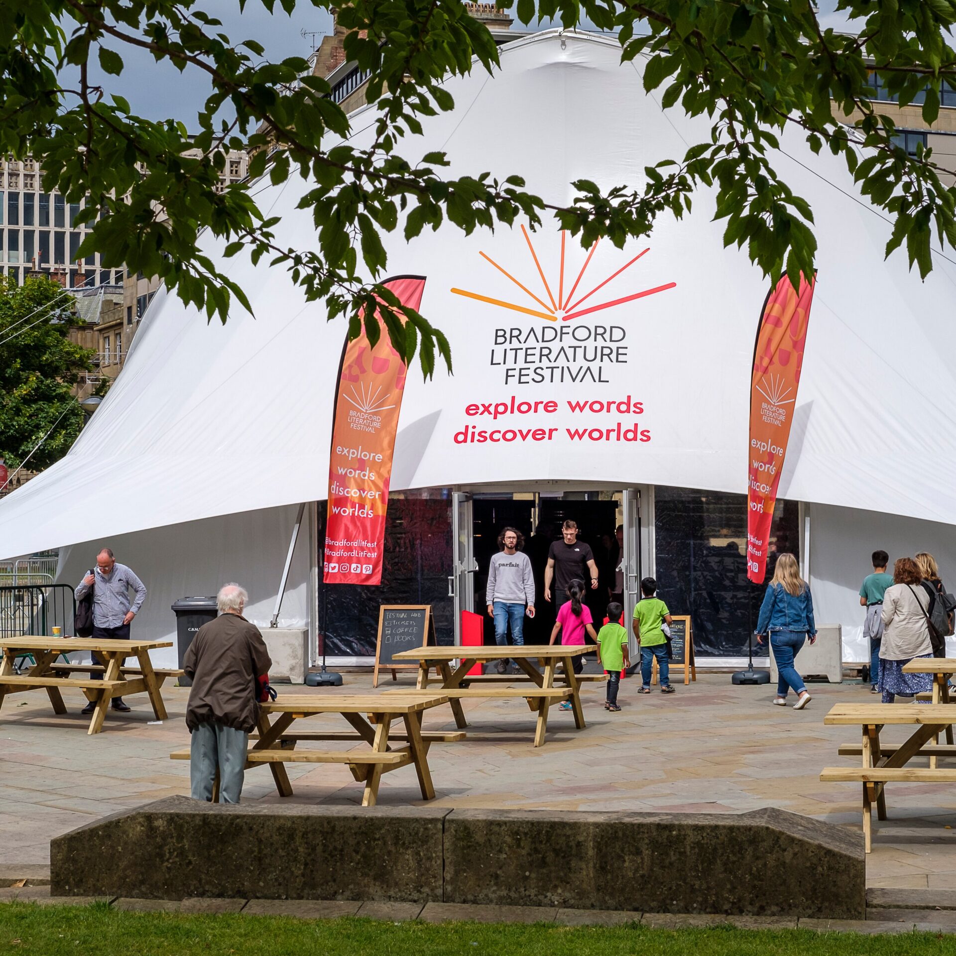
[[[249,0],[242,13],[238,0],[202,0],[198,6],[223,21],[221,30],[233,43],[257,40],[270,60],[308,56],[321,42],[322,35],[332,32],[332,16],[316,10],[309,0],[299,0],[292,16],[282,11],[278,3],[275,12],[269,13],[259,0]],[[836,0],[819,4],[823,26],[845,29],[846,20],[842,14],[836,14],[835,8]],[[516,23],[513,29],[520,29],[520,24]],[[303,36],[303,31],[317,35]],[[122,76],[106,76],[94,58],[90,63],[92,82],[107,93],[120,93],[129,100],[133,112],[147,120],[182,120],[190,131],[197,129],[196,115],[209,93],[205,77],[194,68],[180,74],[168,63],[156,63],[150,54],[124,44],[115,45],[114,49],[125,64]]]

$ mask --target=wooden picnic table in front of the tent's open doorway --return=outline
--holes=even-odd
[[[428,686],[430,668],[437,668],[441,675],[443,694],[449,698],[455,724],[459,728],[467,727],[462,700],[474,697],[499,697],[504,699],[524,698],[528,706],[537,711],[537,725],[534,729],[534,746],[541,747],[548,729],[548,709],[558,701],[571,701],[575,714],[575,726],[584,728],[584,710],[581,707],[580,684],[585,680],[606,680],[601,674],[577,675],[572,666],[573,660],[581,654],[597,651],[595,644],[525,644],[524,646],[499,647],[497,644],[479,644],[477,646],[450,645],[436,647],[426,645],[412,650],[401,651],[394,655],[395,661],[418,661],[418,687]],[[468,671],[476,664],[486,661],[500,661],[509,657],[524,671],[520,675],[482,675],[468,676]],[[544,672],[540,672],[534,661],[544,663]],[[452,670],[451,663],[458,661]],[[561,673],[557,674],[560,664]],[[555,685],[555,677],[559,684]],[[506,687],[504,684],[533,684],[533,689],[524,687]],[[401,691],[388,691],[401,693]]]

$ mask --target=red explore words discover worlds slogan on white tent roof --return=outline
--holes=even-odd
[[[554,426],[547,416],[565,408],[573,415],[587,416],[582,427]],[[635,402],[630,395],[622,399],[540,399],[533,402],[519,400],[512,395],[503,402],[470,402],[465,406],[468,418],[477,418],[478,424],[466,423],[453,437],[455,445],[485,445],[511,442],[554,442],[567,436],[572,442],[649,442],[649,428],[641,428],[634,416],[643,415],[643,402]],[[531,418],[530,416],[534,416]],[[620,416],[618,421],[609,416]],[[482,427],[485,420],[490,427]],[[498,420],[502,419],[501,424]]]

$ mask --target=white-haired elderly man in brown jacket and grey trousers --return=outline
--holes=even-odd
[[[190,781],[194,800],[212,799],[219,770],[219,799],[238,803],[250,730],[258,717],[256,678],[272,661],[259,629],[242,616],[249,595],[227,584],[216,596],[219,617],[204,624],[185,652],[192,680],[185,723],[191,737]]]

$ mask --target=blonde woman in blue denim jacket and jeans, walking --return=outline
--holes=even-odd
[[[811,643],[816,640],[816,624],[810,585],[800,576],[800,566],[793,554],[781,554],[777,558],[757,620],[757,641],[763,643],[764,635],[770,637],[777,664],[777,695],[773,703],[787,706],[787,690],[793,687],[796,691],[793,709],[802,710],[810,703],[810,694],[793,666],[793,658],[808,637]]]

